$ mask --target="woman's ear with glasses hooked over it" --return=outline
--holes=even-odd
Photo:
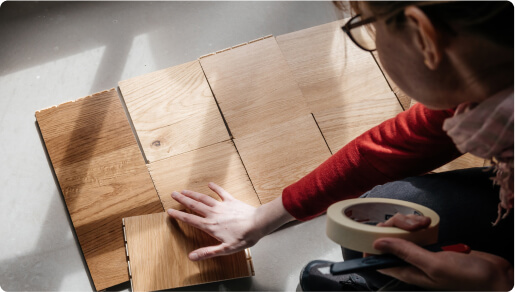
[[[415,46],[424,57],[424,64],[435,70],[442,61],[443,49],[433,23],[417,6],[406,7],[404,15],[413,30]]]

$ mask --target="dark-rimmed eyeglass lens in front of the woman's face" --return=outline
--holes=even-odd
[[[376,21],[375,17],[362,19],[361,14],[353,16],[342,30],[361,49],[373,52],[376,50],[376,30],[371,23]]]

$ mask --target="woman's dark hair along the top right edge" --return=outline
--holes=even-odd
[[[391,15],[387,22],[399,27],[406,17],[403,8],[418,6],[440,29],[450,34],[467,32],[481,35],[497,44],[513,48],[513,4],[509,1],[363,1],[376,17]],[[350,6],[360,13],[360,2],[351,1]],[[342,3],[337,4],[340,9]],[[395,13],[399,11],[399,13]]]

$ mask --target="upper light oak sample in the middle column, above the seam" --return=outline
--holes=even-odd
[[[310,113],[273,37],[200,63],[234,138]]]

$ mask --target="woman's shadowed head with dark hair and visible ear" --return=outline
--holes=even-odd
[[[388,75],[431,108],[479,102],[513,86],[510,2],[351,2],[375,18],[375,42]]]

